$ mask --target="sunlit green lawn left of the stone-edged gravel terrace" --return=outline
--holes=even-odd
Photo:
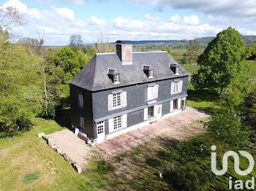
[[[0,139],[0,190],[91,191],[108,185],[105,163],[91,162],[87,174],[78,174],[45,140],[37,138],[42,131],[62,130],[57,122],[35,118],[33,123],[28,132]]]

